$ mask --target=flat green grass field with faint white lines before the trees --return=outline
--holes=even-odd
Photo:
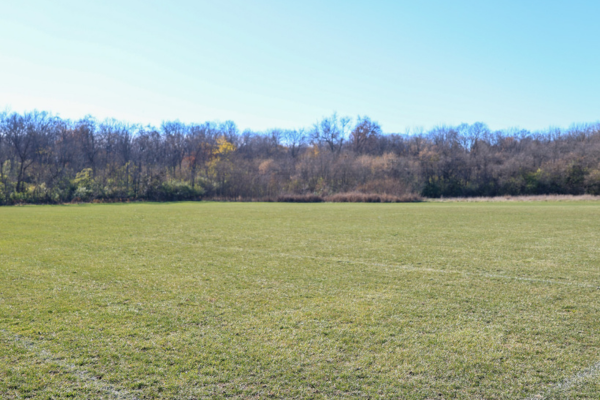
[[[600,397],[600,203],[0,208],[0,398]]]

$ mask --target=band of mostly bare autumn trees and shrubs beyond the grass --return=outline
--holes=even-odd
[[[600,194],[600,124],[530,132],[483,123],[385,134],[368,117],[304,129],[160,127],[0,114],[0,204]]]

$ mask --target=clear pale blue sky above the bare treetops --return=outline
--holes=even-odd
[[[600,120],[600,1],[0,4],[0,109],[386,132]]]

